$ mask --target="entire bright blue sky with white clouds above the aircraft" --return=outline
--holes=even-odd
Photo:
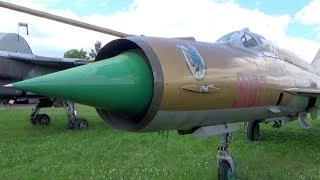
[[[243,28],[311,62],[320,48],[320,0],[6,0],[20,6],[128,34],[183,37],[215,42]],[[90,51],[117,37],[0,8],[0,32],[19,33],[34,54],[62,57],[70,49]]]

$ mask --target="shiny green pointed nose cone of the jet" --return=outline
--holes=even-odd
[[[118,56],[12,84],[13,88],[127,115],[145,110],[153,75],[143,56]]]

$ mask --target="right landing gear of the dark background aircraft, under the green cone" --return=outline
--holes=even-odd
[[[76,129],[88,129],[88,121],[84,118],[77,117],[77,111],[74,103],[65,102],[65,108],[68,113],[68,123],[67,129],[76,130]]]

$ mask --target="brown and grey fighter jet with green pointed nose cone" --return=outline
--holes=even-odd
[[[217,42],[127,36],[106,44],[95,62],[6,87],[92,106],[112,128],[222,135],[218,178],[236,175],[228,152],[237,122],[319,116],[320,58],[312,64],[245,28]]]

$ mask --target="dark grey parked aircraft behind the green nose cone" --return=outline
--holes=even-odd
[[[14,44],[12,44],[14,47],[16,47],[15,45],[18,45],[17,42],[27,45],[25,39],[18,34],[2,33],[0,35],[5,36],[4,38],[8,36],[11,38],[19,38],[19,41],[14,41]],[[41,108],[52,107],[54,102],[57,102],[57,99],[25,91],[3,88],[2,86],[8,83],[61,71],[89,62],[73,58],[37,56],[33,55],[28,45],[26,47],[27,48],[22,49],[21,52],[16,50],[13,51],[10,48],[4,49],[5,51],[0,51],[0,101],[38,99],[39,102],[30,114],[30,122],[33,125],[49,125],[50,117],[47,114],[39,114],[39,112]],[[63,105],[66,107],[68,112],[68,129],[87,128],[88,122],[83,118],[76,117],[74,103],[63,102]]]

